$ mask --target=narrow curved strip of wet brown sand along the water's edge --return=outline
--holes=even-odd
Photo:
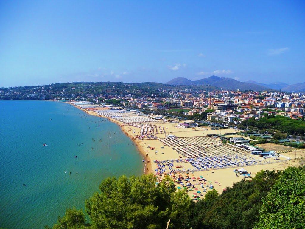
[[[70,103],[70,102],[64,102],[64,103],[67,103],[67,104],[70,104],[72,106],[74,106],[75,108],[81,110],[81,111],[84,111],[85,113],[87,113],[88,115],[93,115],[93,116],[96,116],[96,117],[100,117],[100,118],[106,118],[108,119],[110,122],[113,122],[115,124],[117,124],[121,131],[131,139],[131,141],[135,144],[135,147],[137,148],[138,152],[142,155],[142,157],[144,158],[145,160],[145,165],[144,165],[144,174],[150,174],[150,173],[153,173],[152,171],[152,162],[151,162],[151,159],[149,156],[146,156],[147,154],[145,153],[145,150],[142,148],[141,144],[135,140],[131,135],[129,135],[127,133],[127,131],[125,131],[123,129],[124,125],[126,125],[125,123],[123,122],[120,122],[120,121],[117,121],[113,118],[109,118],[109,117],[106,117],[106,116],[103,116],[103,115],[98,115],[96,112],[94,111],[88,111],[86,110],[85,108],[81,108],[81,107],[77,107],[76,105],[74,105],[73,103]],[[150,163],[148,163],[147,161],[149,161]]]

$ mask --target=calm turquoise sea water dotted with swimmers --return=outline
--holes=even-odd
[[[116,124],[69,104],[0,101],[0,120],[0,227],[52,226],[66,208],[84,209],[105,177],[143,172]]]

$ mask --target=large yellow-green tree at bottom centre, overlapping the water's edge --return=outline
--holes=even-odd
[[[167,176],[156,186],[153,174],[105,179],[86,202],[86,211],[96,228],[189,228],[194,203],[177,191]]]

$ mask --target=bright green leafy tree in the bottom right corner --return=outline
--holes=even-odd
[[[305,175],[300,168],[289,167],[263,199],[256,229],[305,228]]]

